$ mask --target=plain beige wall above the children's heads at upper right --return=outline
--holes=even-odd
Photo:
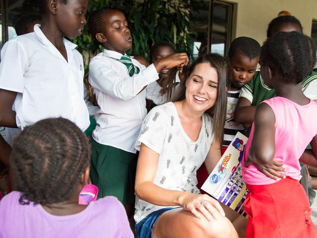
[[[312,20],[317,20],[317,0],[230,0],[234,3],[232,39],[248,36],[260,44],[266,39],[268,23],[282,11],[295,16],[305,35],[311,35]],[[235,22],[236,21],[236,22]]]

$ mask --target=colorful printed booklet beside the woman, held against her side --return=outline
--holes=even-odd
[[[248,190],[242,178],[243,149],[248,138],[237,133],[217,166],[204,182],[201,189],[218,201],[246,217],[243,202]]]

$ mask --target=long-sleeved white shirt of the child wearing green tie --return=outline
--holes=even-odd
[[[127,67],[117,60],[121,57],[116,51],[104,49],[89,63],[88,79],[100,107],[92,136],[100,144],[136,153],[134,144],[147,113],[146,89],[139,91],[157,80],[158,72],[154,64],[145,68],[132,59],[140,72],[130,77]]]

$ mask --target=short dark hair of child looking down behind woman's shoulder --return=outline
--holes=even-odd
[[[232,59],[236,54],[240,54],[250,61],[260,56],[261,46],[257,40],[250,37],[238,37],[231,42],[228,57]]]

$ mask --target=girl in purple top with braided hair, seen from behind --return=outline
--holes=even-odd
[[[2,198],[0,237],[132,238],[117,198],[79,205],[89,160],[88,139],[68,119],[44,119],[26,127],[14,140],[10,159],[23,193]]]

